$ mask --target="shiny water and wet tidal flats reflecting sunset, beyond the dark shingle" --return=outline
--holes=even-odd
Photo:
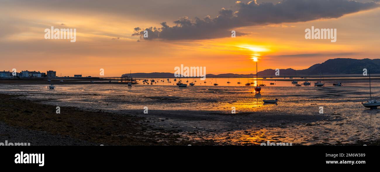
[[[185,83],[185,81],[186,79],[182,79],[182,82]],[[47,104],[109,111],[136,110],[142,113],[143,107],[147,106],[152,111],[160,110],[177,114],[177,119],[157,124],[158,127],[177,124],[186,131],[197,131],[197,135],[189,136],[194,140],[212,139],[216,142],[260,144],[266,140],[278,140],[280,137],[279,140],[283,142],[310,145],[321,142],[334,144],[337,141],[354,142],[380,138],[378,132],[380,110],[369,110],[360,104],[369,97],[367,81],[344,81],[342,87],[332,86],[331,83],[337,81],[326,82],[325,87],[314,87],[313,81],[311,81],[312,86],[302,87],[296,87],[290,81],[275,81],[276,84],[273,86],[269,85],[269,82],[274,81],[263,81],[264,84],[267,84],[266,82],[268,84],[262,88],[261,94],[255,94],[253,86],[238,86],[239,79],[237,78],[230,79],[231,86],[226,86],[227,81],[227,78],[217,78],[219,86],[213,86],[215,78],[207,78],[206,85],[198,79],[195,86],[178,88],[172,85],[175,84],[174,81],[167,83],[165,79],[164,83],[135,84],[131,88],[124,84],[75,84],[55,85],[54,90],[48,89],[47,84],[0,84],[0,92],[26,94],[28,99],[48,100],[45,102]],[[241,85],[248,81],[247,78],[240,78]],[[380,94],[379,92],[380,83],[374,81],[373,96]],[[280,102],[264,104],[262,101],[275,98]],[[231,115],[232,107],[236,108],[236,114],[233,117],[215,114]],[[323,114],[319,113],[320,107],[323,107]],[[192,111],[192,113],[181,111]],[[244,112],[253,114],[239,117],[239,113]],[[273,123],[270,123],[268,119],[252,120],[255,112],[269,117],[272,115],[276,120]],[[215,121],[187,121],[180,118],[180,116],[200,114]],[[286,114],[301,116],[289,119],[289,115]],[[288,126],[279,127],[281,121],[275,118],[276,115],[284,118],[283,123]],[[308,124],[304,123],[308,119],[307,116],[310,116],[310,120],[315,119],[311,122],[312,125],[310,121]],[[242,122],[233,126],[236,121]],[[205,131],[200,131],[199,128]],[[213,132],[206,132],[206,130]]]

